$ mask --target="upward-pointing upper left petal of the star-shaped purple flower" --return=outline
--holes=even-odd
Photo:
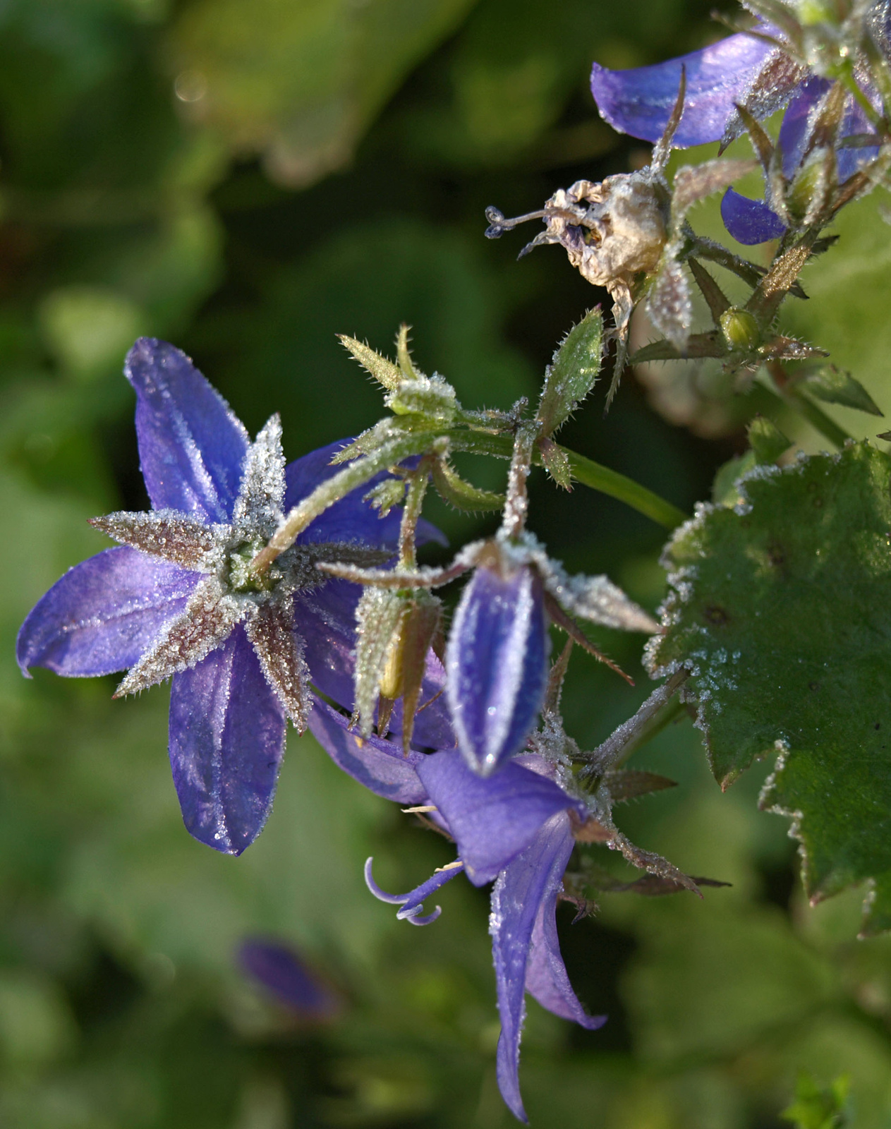
[[[124,375],[137,394],[139,457],[152,507],[228,522],[248,447],[241,421],[166,341],[140,338]]]

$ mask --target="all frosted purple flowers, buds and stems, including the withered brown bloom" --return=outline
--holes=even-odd
[[[788,294],[803,294],[798,273],[824,250],[823,226],[868,191],[891,159],[877,108],[891,90],[891,78],[882,86],[885,8],[853,3],[831,24],[809,21],[803,7],[779,0],[752,7],[760,21],[749,32],[681,60],[623,72],[595,67],[601,113],[655,141],[653,159],[636,173],[560,189],[539,212],[521,217],[544,221],[530,246],[564,246],[613,299],[618,356],[608,403],[638,301],[664,334],[638,360],[719,357],[752,373],[822,356],[781,336],[776,314]],[[760,122],[784,106],[775,143]],[[732,187],[757,161],[718,157],[679,169],[670,182],[674,146],[726,145],[742,132],[765,173],[763,203]],[[770,268],[696,236],[688,213],[717,191],[741,242],[779,238]],[[495,208],[487,215],[491,237],[519,222]],[[702,261],[752,287],[744,306],[731,305]],[[692,332],[690,278],[715,323],[701,334]],[[251,441],[182,352],[138,341],[125,375],[137,396],[151,509],[94,520],[117,546],[71,569],[37,603],[19,632],[18,662],[26,675],[34,666],[65,676],[125,671],[116,697],[171,679],[169,756],[183,819],[216,850],[238,855],[262,830],[288,720],[309,729],[359,784],[447,835],[454,861],[416,890],[382,890],[372,859],[366,882],[414,926],[437,919],[439,907],[426,903],[458,874],[477,886],[492,884],[498,1083],[525,1119],[518,1082],[525,994],[585,1027],[605,1022],[576,997],[558,944],[558,900],[588,908],[591,886],[577,874],[565,877],[576,846],[619,850],[648,872],[647,892],[707,884],[635,847],[612,819],[618,800],[670,784],[621,765],[665,717],[687,671],[593,752],[564,729],[559,702],[574,646],[622,674],[579,621],[657,630],[606,577],[568,575],[526,528],[533,464],[569,489],[585,462],[573,461],[553,435],[597,379],[599,309],[561,343],[534,414],[525,400],[509,411],[465,411],[444,377],[417,369],[404,326],[395,362],[343,342],[383,386],[392,414],[358,438],[286,465],[277,417]],[[771,444],[777,436],[768,437]],[[451,461],[462,450],[509,458],[506,492],[464,481]],[[493,535],[464,545],[444,568],[417,559],[419,545],[442,540],[421,516],[430,487],[458,508],[503,513]],[[434,589],[465,574],[446,630]],[[552,629],[568,641],[551,664]],[[337,1010],[337,1000],[274,944],[256,942],[242,960],[307,1014]]]

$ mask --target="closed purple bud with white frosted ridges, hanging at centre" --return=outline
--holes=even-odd
[[[455,612],[446,695],[458,747],[484,776],[517,753],[544,697],[550,639],[541,579],[480,567]]]

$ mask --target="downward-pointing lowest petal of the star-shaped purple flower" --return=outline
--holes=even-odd
[[[285,752],[285,715],[244,627],[171,693],[171,768],[190,833],[241,855],[267,821]]]

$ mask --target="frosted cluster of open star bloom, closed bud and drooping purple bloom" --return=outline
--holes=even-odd
[[[456,861],[404,895],[376,886],[370,860],[367,882],[413,925],[435,920],[438,909],[425,916],[422,903],[457,874],[495,883],[498,1078],[524,1118],[517,1070],[525,991],[584,1026],[605,1022],[579,1004],[557,942],[554,909],[578,829],[596,825],[595,838],[659,870],[615,831],[608,793],[579,787],[553,712],[568,651],[554,682],[549,623],[597,655],[575,615],[655,629],[605,577],[567,576],[523,530],[531,437],[558,426],[569,401],[561,408],[551,388],[538,422],[518,429],[498,536],[465,546],[436,575],[414,561],[416,544],[438,536],[420,518],[427,480],[442,473],[431,456],[367,474],[370,491],[350,488],[349,478],[337,485],[344,472],[332,461],[350,449],[347,441],[286,465],[278,418],[251,443],[172,345],[141,339],[125,375],[152,508],[94,519],[119,545],[69,570],[33,609],[18,637],[23,673],[128,671],[115,697],[172,679],[174,784],[186,828],[216,850],[238,855],[260,833],[288,719],[365,787],[429,814],[455,841]],[[571,400],[578,390],[560,395]],[[460,490],[449,473],[446,489]],[[291,515],[314,505],[305,527],[283,537]],[[466,569],[473,576],[443,649],[438,603],[426,589]],[[256,974],[274,966],[269,975],[282,979],[274,953],[261,946],[248,956]]]

